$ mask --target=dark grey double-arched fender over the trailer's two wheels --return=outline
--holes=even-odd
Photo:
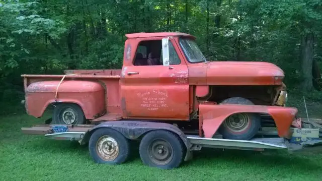
[[[183,143],[186,145],[187,153],[185,161],[192,158],[192,154],[190,152],[191,143],[189,142],[187,136],[179,128],[171,124],[146,121],[140,122],[137,120],[120,120],[117,122],[104,122],[86,132],[83,139],[80,141],[81,145],[88,143],[91,135],[95,132],[95,130],[100,128],[111,128],[120,132],[125,138],[130,140],[139,139],[141,136],[153,130],[168,130],[177,134],[181,138]]]

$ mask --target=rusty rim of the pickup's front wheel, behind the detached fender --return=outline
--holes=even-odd
[[[233,114],[225,120],[224,125],[232,132],[243,132],[249,127],[250,118],[246,113]]]

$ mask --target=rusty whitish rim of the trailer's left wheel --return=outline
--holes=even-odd
[[[96,152],[105,161],[113,161],[120,152],[117,141],[108,135],[99,138],[96,144]]]

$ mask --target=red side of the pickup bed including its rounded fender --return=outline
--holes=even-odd
[[[78,104],[88,119],[109,112],[121,113],[120,76],[68,75],[59,86],[63,75],[22,75],[22,77],[25,85],[25,107],[27,113],[35,117],[40,117],[50,103],[59,102]],[[93,86],[102,90],[95,92],[91,90]]]

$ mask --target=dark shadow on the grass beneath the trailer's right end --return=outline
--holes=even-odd
[[[320,174],[320,163],[322,154],[314,155],[316,159],[312,161],[313,157],[303,157],[304,154],[288,154],[282,150],[268,150],[265,152],[248,151],[248,150],[220,150],[203,148],[202,151],[194,152],[194,158],[183,164],[184,167],[190,164],[200,166],[211,166],[213,162],[236,164],[236,165],[256,165],[264,169],[272,168],[292,168],[300,170],[301,172],[316,172]],[[211,161],[209,161],[211,160]],[[321,162],[321,161],[319,161]],[[200,164],[202,163],[202,164]]]

